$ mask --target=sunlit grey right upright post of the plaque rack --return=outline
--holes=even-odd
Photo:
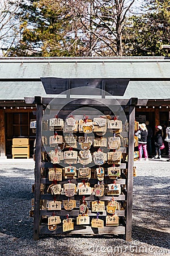
[[[131,241],[132,201],[133,201],[133,164],[134,164],[134,122],[135,106],[129,106],[129,138],[128,138],[128,184],[126,206],[126,241]]]

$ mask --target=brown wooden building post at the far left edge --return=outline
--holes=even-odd
[[[0,158],[6,159],[5,151],[5,111],[0,109]]]

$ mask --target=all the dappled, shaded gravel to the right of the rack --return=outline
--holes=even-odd
[[[169,248],[169,177],[137,176],[133,189],[133,238]],[[139,224],[139,225],[137,225]]]

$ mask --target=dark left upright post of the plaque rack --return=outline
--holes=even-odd
[[[35,165],[35,196],[34,196],[34,225],[33,240],[39,239],[40,224],[40,180],[41,180],[41,121],[42,104],[41,97],[35,97],[36,112],[36,165]]]

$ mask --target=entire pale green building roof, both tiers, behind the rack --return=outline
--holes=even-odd
[[[162,81],[130,81],[123,97],[170,99],[169,71],[170,59],[164,57],[0,58],[0,100],[50,97],[40,77],[158,78]]]

